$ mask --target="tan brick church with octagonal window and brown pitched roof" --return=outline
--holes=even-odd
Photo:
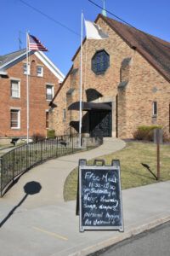
[[[98,15],[109,35],[84,39],[82,133],[133,137],[139,125],[162,125],[170,132],[170,43]],[[51,102],[50,129],[78,131],[80,48]]]

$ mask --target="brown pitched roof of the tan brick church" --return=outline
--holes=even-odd
[[[150,62],[150,64],[170,82],[170,43],[142,32],[133,26],[99,15],[131,48]],[[96,20],[96,21],[97,21]]]

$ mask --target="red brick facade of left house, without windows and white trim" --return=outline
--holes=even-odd
[[[54,84],[54,93],[59,89],[59,79],[44,66],[36,55],[31,55],[30,62],[34,66],[30,76],[30,131],[29,135],[47,135],[46,129],[46,84]],[[8,78],[0,78],[0,137],[26,137],[26,75],[23,73],[23,64],[26,60],[20,61],[13,67],[9,67]],[[43,77],[37,77],[37,65],[43,67]],[[10,92],[10,79],[20,79],[20,98],[14,99]],[[10,128],[10,109],[20,108],[20,129]]]

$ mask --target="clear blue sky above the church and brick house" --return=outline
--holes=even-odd
[[[23,0],[68,26],[80,34],[81,12],[86,20],[95,20],[101,12],[88,0]],[[102,5],[102,0],[93,0]],[[106,9],[144,32],[170,41],[170,1],[169,0],[105,0]],[[80,45],[77,34],[70,32],[52,20],[30,9],[20,0],[0,0],[1,40],[0,55],[19,49],[19,32],[22,48],[26,47],[26,31],[40,39],[49,52],[48,57],[67,73],[71,67],[71,58]],[[111,15],[109,15],[111,18]]]

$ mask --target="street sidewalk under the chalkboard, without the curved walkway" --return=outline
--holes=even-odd
[[[1,255],[78,256],[94,253],[170,220],[169,198],[170,182],[123,190],[123,233],[113,230],[79,233],[76,201],[28,209],[27,198],[0,229]],[[5,201],[1,201],[0,206],[3,220],[14,206]]]

